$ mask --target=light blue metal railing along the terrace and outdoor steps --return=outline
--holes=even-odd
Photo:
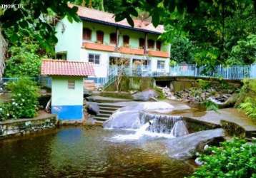
[[[162,77],[162,76],[191,76],[201,78],[223,78],[228,80],[242,80],[243,78],[256,78],[256,65],[247,66],[215,66],[214,70],[205,72],[204,66],[195,64],[170,66],[169,71],[151,70],[150,66],[109,66],[108,75],[104,77],[89,77],[84,80],[94,80],[98,86],[107,88],[114,83],[118,75],[139,76],[139,77]],[[1,78],[1,83],[15,81],[19,78]],[[51,78],[39,76],[39,78],[30,78],[38,81],[42,86],[51,88]]]

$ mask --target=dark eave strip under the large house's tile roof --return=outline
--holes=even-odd
[[[90,18],[87,18],[87,17],[84,17],[84,16],[79,16],[79,17],[80,17],[80,19],[82,19],[84,21],[92,21],[92,22],[95,22],[95,23],[102,23],[102,24],[109,25],[109,26],[117,26],[117,27],[121,27],[121,28],[127,28],[127,29],[130,29],[130,30],[133,30],[133,31],[142,31],[142,32],[145,32],[145,33],[153,33],[153,34],[157,34],[157,35],[162,34],[162,33],[157,32],[157,31],[149,31],[149,30],[145,30],[145,29],[134,28],[132,26],[124,26],[124,25],[120,25],[120,24],[117,24],[117,23],[107,22],[107,21],[99,21],[99,20],[90,19]]]

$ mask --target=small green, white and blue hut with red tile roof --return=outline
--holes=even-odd
[[[82,120],[83,80],[94,75],[92,63],[45,59],[41,75],[51,77],[51,113],[59,120]]]

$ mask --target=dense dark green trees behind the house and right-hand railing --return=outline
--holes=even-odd
[[[115,2],[113,7],[117,9],[114,11],[117,21],[127,18],[133,25],[130,17],[136,15],[134,11],[147,11],[154,26],[164,24],[166,32],[162,34],[162,39],[173,43],[171,52],[175,61],[207,66],[205,71],[214,70],[216,64],[255,61],[252,60],[250,46],[241,43],[241,50],[233,48],[237,41],[248,41],[245,38],[256,31],[256,2],[253,0]],[[184,38],[191,43],[184,41]],[[245,56],[246,53],[251,57]]]

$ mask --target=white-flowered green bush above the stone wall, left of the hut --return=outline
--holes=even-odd
[[[34,117],[38,110],[39,88],[33,81],[22,78],[8,83],[11,103],[1,103],[0,120]]]

